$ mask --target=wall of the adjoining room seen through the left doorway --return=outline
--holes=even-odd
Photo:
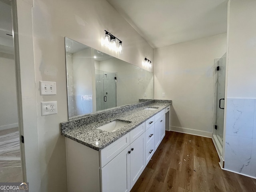
[[[0,52],[0,130],[18,127],[14,55]]]

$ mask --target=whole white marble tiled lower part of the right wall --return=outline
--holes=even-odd
[[[256,99],[227,99],[225,169],[256,177]]]

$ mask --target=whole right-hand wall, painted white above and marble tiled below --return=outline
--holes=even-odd
[[[224,168],[256,178],[256,1],[229,3]]]

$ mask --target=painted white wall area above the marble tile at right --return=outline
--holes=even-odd
[[[256,1],[231,0],[228,98],[256,98]]]

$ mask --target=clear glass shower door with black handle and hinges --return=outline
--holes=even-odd
[[[223,144],[226,54],[214,62],[214,137]]]

